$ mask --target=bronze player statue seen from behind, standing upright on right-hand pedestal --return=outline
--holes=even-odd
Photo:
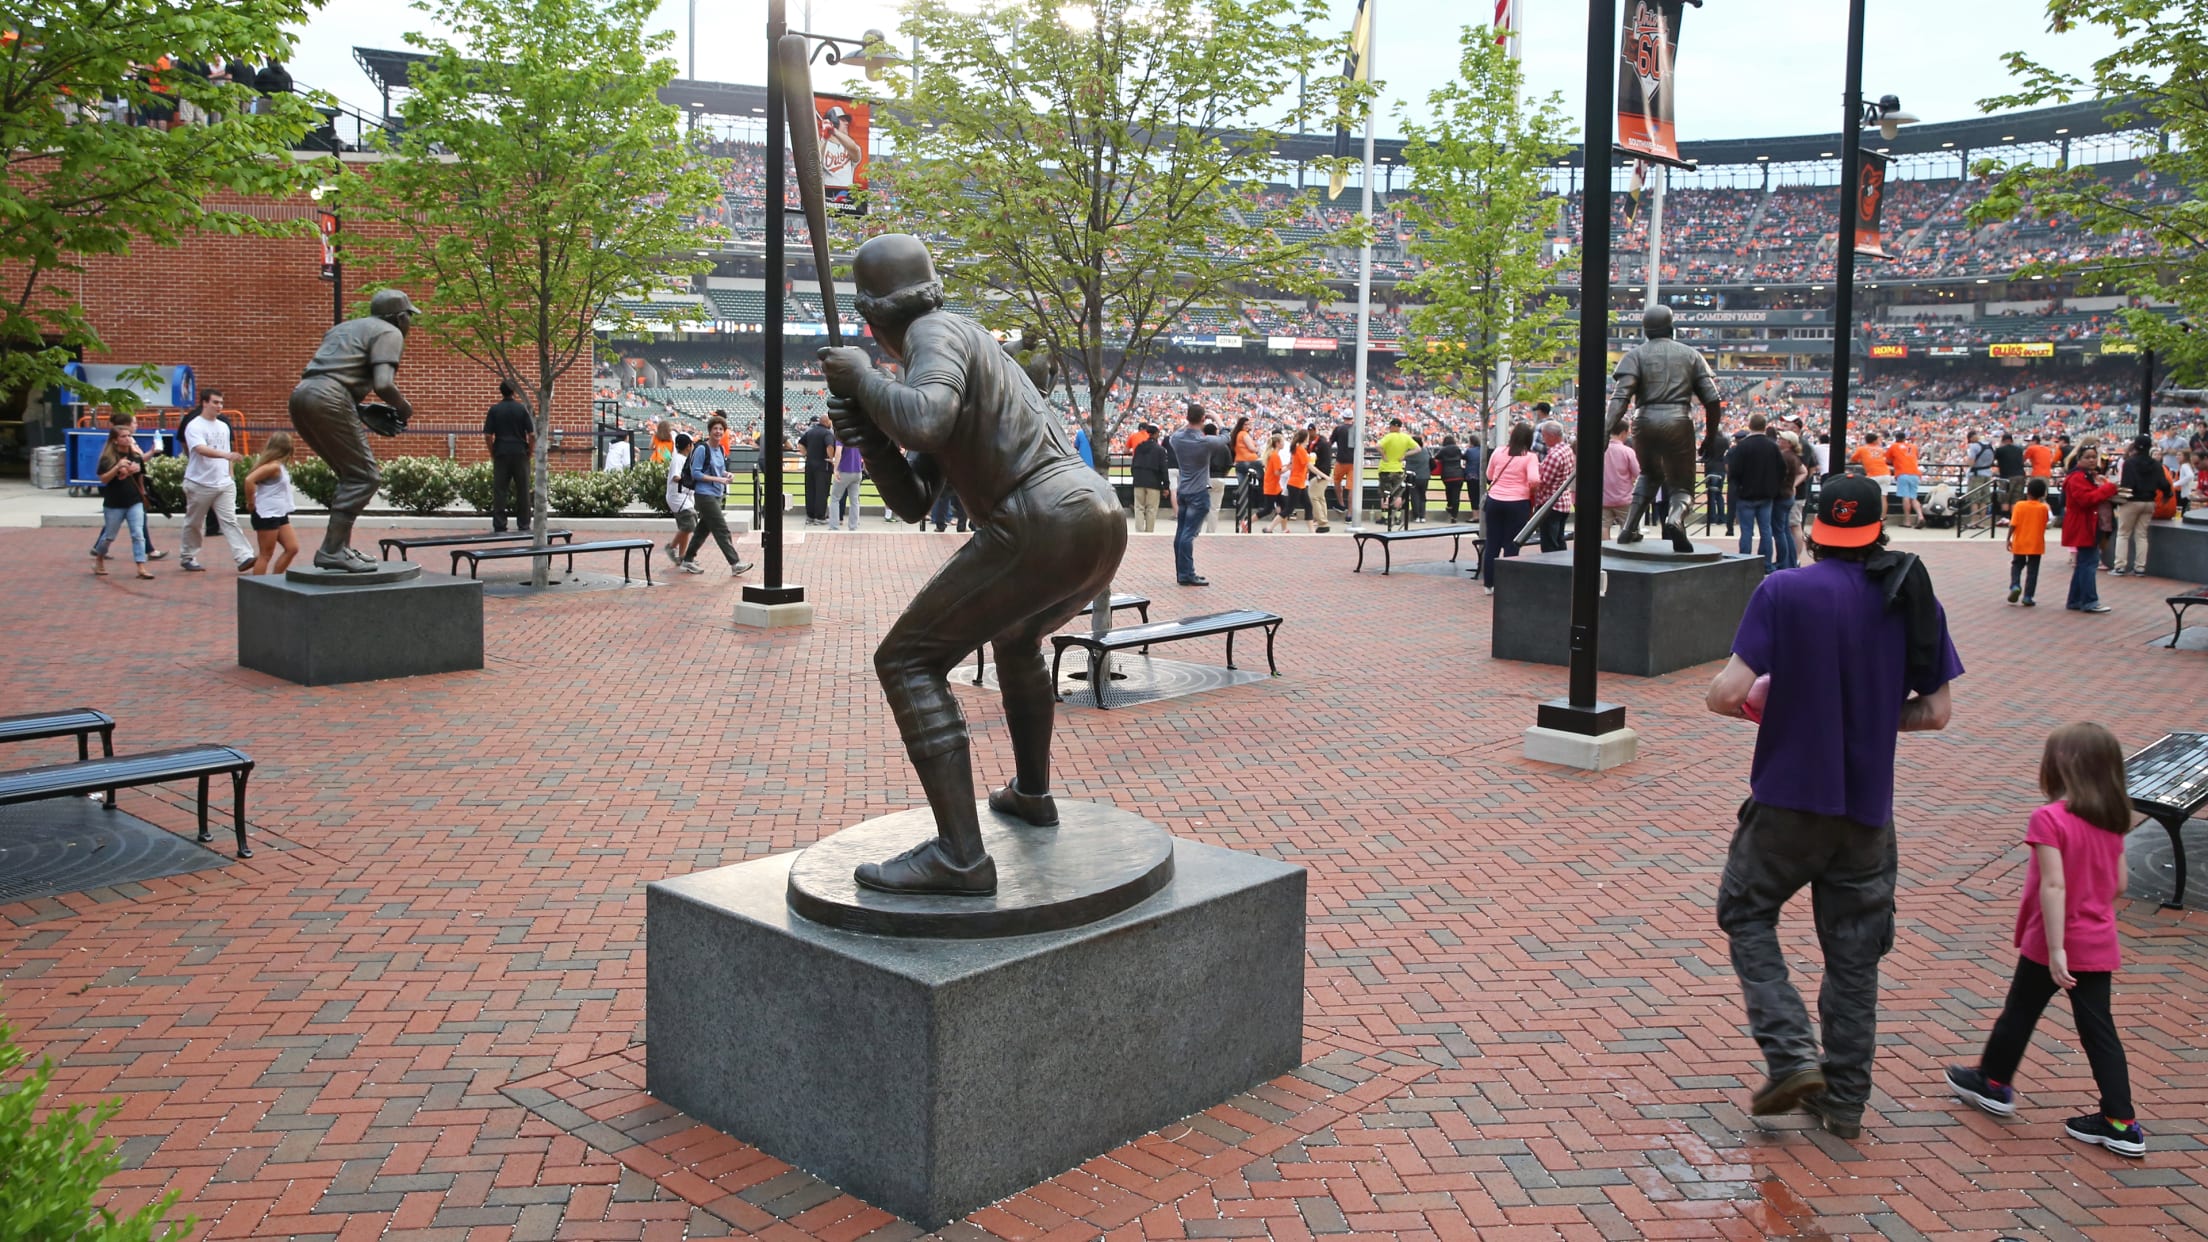
[[[1634,420],[1641,482],[1634,484],[1634,506],[1625,515],[1618,544],[1641,541],[1641,519],[1647,515],[1656,488],[1663,488],[1663,533],[1671,539],[1674,550],[1691,552],[1687,502],[1694,499],[1694,422],[1687,402],[1702,402],[1702,420],[1709,429],[1705,444],[1722,444],[1718,413],[1724,402],[1718,398],[1718,378],[1709,371],[1709,360],[1691,345],[1671,338],[1671,307],[1649,307],[1641,316],[1641,334],[1647,340],[1618,358],[1618,376],[1610,389],[1612,435],[1625,427],[1625,409],[1636,396],[1641,398],[1641,418]]]

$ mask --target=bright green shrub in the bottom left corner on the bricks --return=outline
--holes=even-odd
[[[24,1061],[29,1054],[15,1045],[15,1028],[0,1025],[0,1235],[55,1242],[190,1238],[197,1218],[161,1220],[177,1207],[177,1191],[130,1215],[97,1207],[99,1185],[121,1167],[115,1140],[99,1138],[99,1127],[124,1101],[55,1107],[40,1118],[53,1063],[40,1061],[38,1070],[13,1081]]]

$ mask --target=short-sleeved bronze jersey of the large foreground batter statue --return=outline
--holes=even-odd
[[[881,389],[868,393],[870,409],[881,398],[899,413],[921,396],[932,398],[930,404],[956,402],[949,427],[936,427],[934,435],[912,433],[910,418],[899,418],[896,431],[883,429],[899,446],[932,455],[976,522],[987,522],[1013,488],[1031,480],[1089,469],[1020,362],[965,316],[932,312],[912,320],[903,382],[874,371],[868,387],[874,385]]]

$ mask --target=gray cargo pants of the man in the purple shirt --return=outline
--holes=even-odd
[[[1824,948],[1817,1019],[1824,1023],[1826,1101],[1859,1114],[1870,1101],[1879,1036],[1879,959],[1894,946],[1894,824],[1740,804],[1740,827],[1718,884],[1718,926],[1733,941],[1733,975],[1749,1030],[1773,1078],[1817,1065],[1802,992],[1786,979],[1780,908],[1804,886]]]

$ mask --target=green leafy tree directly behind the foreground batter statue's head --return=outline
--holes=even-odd
[[[1285,241],[1259,188],[1283,128],[1362,88],[1325,77],[1323,0],[914,0],[919,82],[877,113],[896,146],[885,214],[947,239],[952,296],[1047,343],[1089,396],[1097,464],[1111,398],[1190,305],[1243,287],[1320,292],[1320,250]],[[1296,73],[1314,73],[1312,99]],[[1320,88],[1325,84],[1325,88]],[[1309,199],[1303,199],[1309,201]],[[1289,212],[1298,210],[1289,208]]]

